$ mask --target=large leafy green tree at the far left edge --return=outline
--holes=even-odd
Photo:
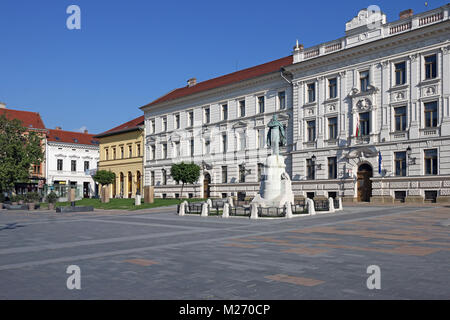
[[[0,192],[29,180],[32,165],[44,159],[41,143],[42,136],[27,130],[21,121],[0,116]]]

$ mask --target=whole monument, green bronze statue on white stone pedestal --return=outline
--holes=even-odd
[[[263,208],[282,208],[286,203],[294,203],[291,179],[286,172],[284,157],[280,155],[280,147],[286,145],[286,134],[277,115],[273,116],[267,126],[267,145],[272,148],[272,155],[266,159],[259,193],[252,204]]]

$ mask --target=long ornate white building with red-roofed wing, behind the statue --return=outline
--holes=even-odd
[[[179,196],[170,166],[203,167],[184,196],[253,197],[265,126],[287,125],[282,150],[297,197],[450,199],[450,5],[386,22],[370,7],[345,36],[292,56],[176,89],[142,107],[145,185]],[[177,194],[178,193],[178,194]]]

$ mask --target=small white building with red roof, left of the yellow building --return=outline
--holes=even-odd
[[[48,130],[45,151],[47,187],[61,198],[67,197],[69,187],[77,188],[77,199],[98,194],[92,175],[99,161],[99,144],[93,136],[59,128]]]

